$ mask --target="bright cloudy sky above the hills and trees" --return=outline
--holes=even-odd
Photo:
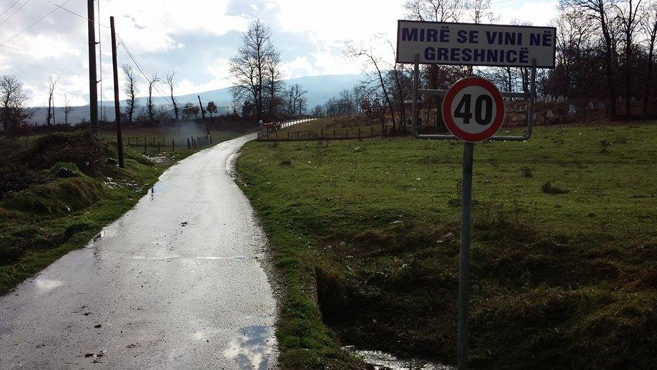
[[[396,21],[407,18],[404,0],[96,0],[94,4],[100,5],[96,19],[101,44],[96,52],[102,50],[97,64],[105,100],[113,98],[111,15],[120,42],[147,75],[177,73],[176,95],[231,86],[229,59],[242,32],[257,18],[274,30],[272,42],[281,51],[287,78],[363,72],[362,61],[344,56],[346,42],[374,43],[383,60],[394,61],[387,40],[394,43]],[[495,23],[519,20],[550,25],[557,5],[555,0],[491,0],[491,11],[498,16]],[[63,105],[64,95],[74,106],[88,104],[87,1],[0,0],[1,12],[0,75],[16,75],[25,84],[31,106],[47,106],[50,75],[58,78],[55,105]],[[98,32],[96,28],[96,40]],[[118,47],[118,61],[133,63],[123,47]],[[145,81],[140,80],[140,96],[147,93]],[[123,85],[123,76],[119,84]],[[125,99],[120,90],[120,99]],[[164,85],[159,90],[167,93]]]

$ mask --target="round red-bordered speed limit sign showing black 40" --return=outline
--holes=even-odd
[[[504,121],[502,93],[485,78],[460,79],[443,99],[443,120],[448,130],[463,141],[487,140]]]

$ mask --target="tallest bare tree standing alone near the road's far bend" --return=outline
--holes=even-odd
[[[237,56],[231,58],[231,88],[235,100],[246,99],[255,105],[256,119],[263,118],[263,86],[266,84],[268,61],[276,60],[276,49],[270,42],[272,29],[259,19],[242,35]],[[270,66],[274,64],[270,63]]]

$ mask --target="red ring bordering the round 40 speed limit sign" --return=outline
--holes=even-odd
[[[461,90],[469,86],[479,86],[480,88],[484,88],[493,98],[496,108],[495,118],[493,118],[491,125],[487,127],[486,130],[478,133],[461,130],[461,128],[456,125],[456,122],[454,122],[454,117],[452,116],[452,103],[454,102],[454,97],[456,97]],[[459,79],[459,81],[453,84],[447,91],[447,94],[443,99],[442,111],[443,121],[445,121],[445,125],[454,136],[469,143],[477,143],[491,138],[491,136],[493,136],[495,132],[498,132],[500,127],[502,127],[502,122],[504,122],[504,99],[502,99],[502,93],[500,93],[500,90],[498,90],[498,88],[489,80],[482,77],[465,77]]]

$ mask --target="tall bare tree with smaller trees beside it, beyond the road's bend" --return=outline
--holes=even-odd
[[[281,113],[304,114],[308,93],[299,84],[285,86],[281,53],[271,40],[272,29],[253,21],[242,35],[242,45],[230,61],[233,79],[233,106],[242,107],[242,116],[255,121],[273,121]]]

